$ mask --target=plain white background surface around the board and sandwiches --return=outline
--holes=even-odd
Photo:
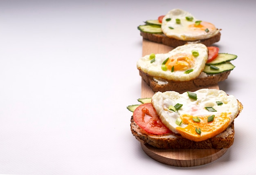
[[[220,89],[243,103],[233,146],[191,168],[148,157],[130,132],[141,78],[137,26],[180,8],[238,55]],[[256,174],[253,0],[0,0],[0,174]]]

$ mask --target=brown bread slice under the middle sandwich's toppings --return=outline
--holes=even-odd
[[[198,77],[193,80],[184,81],[184,82],[165,80],[166,82],[168,82],[167,84],[158,84],[154,80],[153,76],[148,75],[139,69],[139,75],[141,76],[142,80],[144,80],[154,92],[158,92],[158,91],[182,92],[184,90],[195,89],[198,87],[216,85],[218,84],[218,82],[226,80],[230,72],[231,71],[225,71],[225,72],[214,74],[214,75],[207,75],[207,77],[202,77],[202,78]]]

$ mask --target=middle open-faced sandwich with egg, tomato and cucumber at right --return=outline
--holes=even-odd
[[[185,44],[168,53],[145,55],[137,61],[137,69],[154,92],[195,89],[216,85],[227,79],[237,56],[219,53],[218,47]]]

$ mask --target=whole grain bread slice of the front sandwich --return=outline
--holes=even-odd
[[[237,100],[238,101],[238,100]],[[243,105],[238,101],[239,112],[243,110]],[[237,115],[237,116],[238,116]],[[236,116],[236,117],[237,117]],[[132,135],[135,136],[137,140],[144,144],[149,144],[154,146],[155,148],[160,149],[221,149],[221,148],[229,148],[234,142],[234,121],[228,126],[228,128],[212,137],[210,139],[195,142],[189,139],[182,137],[180,134],[170,133],[165,135],[154,135],[144,131],[140,128],[133,120],[133,116],[131,117],[130,128],[132,131]]]

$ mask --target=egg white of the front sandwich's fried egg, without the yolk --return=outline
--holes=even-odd
[[[218,115],[220,113],[231,113],[230,123],[238,115],[239,108],[238,102],[233,95],[227,95],[222,90],[217,89],[200,89],[195,91],[197,94],[197,100],[189,98],[188,93],[177,93],[175,91],[157,92],[152,97],[152,104],[160,117],[160,120],[174,133],[179,133],[177,127],[186,127],[187,124],[181,124],[178,126],[175,121],[183,114],[189,114],[193,116],[209,116]],[[217,105],[217,101],[223,102],[222,105]],[[175,104],[183,104],[178,111],[171,111],[168,106]],[[204,107],[213,107],[216,112],[207,111]],[[192,109],[196,108],[197,111]],[[230,124],[229,123],[229,124]]]

